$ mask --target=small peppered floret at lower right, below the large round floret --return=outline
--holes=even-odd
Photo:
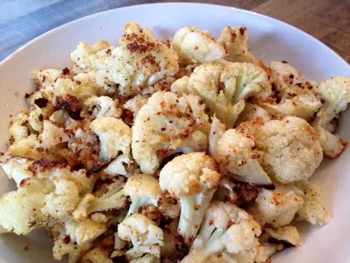
[[[298,210],[297,220],[306,220],[311,224],[324,225],[332,218],[324,208],[324,197],[321,186],[306,180],[296,182],[296,186],[304,191],[304,203]]]

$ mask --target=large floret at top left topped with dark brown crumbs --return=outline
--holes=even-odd
[[[125,25],[119,47],[106,59],[107,78],[118,84],[119,95],[128,97],[178,71],[178,57],[172,48],[154,39],[136,23]]]

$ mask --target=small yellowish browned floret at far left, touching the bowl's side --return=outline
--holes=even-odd
[[[12,145],[29,136],[28,113],[20,112],[18,115],[10,116],[10,127],[8,129],[8,145]]]

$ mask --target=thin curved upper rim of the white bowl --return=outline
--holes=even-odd
[[[269,22],[275,23],[275,24],[279,24],[281,26],[287,27],[289,28],[289,30],[297,32],[299,34],[302,34],[305,38],[310,39],[311,41],[317,43],[317,45],[321,45],[323,46],[323,48],[325,48],[328,52],[330,52],[332,54],[332,56],[336,56],[338,57],[338,59],[340,59],[340,61],[342,63],[344,63],[344,66],[348,66],[349,70],[350,70],[350,64],[348,64],[339,54],[337,54],[335,51],[333,51],[330,47],[328,47],[327,45],[325,45],[324,43],[322,43],[320,40],[316,39],[315,37],[309,35],[308,33],[292,26],[289,25],[283,21],[280,21],[278,19],[266,16],[266,15],[262,15],[253,11],[249,11],[249,10],[244,10],[244,9],[240,9],[240,8],[235,8],[235,7],[229,7],[229,6],[224,6],[224,5],[215,5],[215,4],[206,4],[206,3],[182,3],[182,2],[168,2],[168,3],[151,3],[151,4],[140,4],[140,5],[132,5],[132,6],[126,6],[126,7],[120,7],[120,8],[115,8],[115,9],[109,9],[109,10],[105,10],[105,11],[101,11],[101,12],[97,12],[91,15],[87,15],[75,20],[72,20],[70,22],[67,22],[63,25],[60,25],[56,28],[53,28],[37,37],[35,37],[34,39],[30,40],[29,42],[25,43],[23,46],[21,46],[20,48],[18,48],[17,50],[13,51],[11,54],[9,54],[6,58],[4,58],[1,62],[0,62],[0,67],[3,66],[8,60],[10,60],[12,57],[16,56],[17,54],[19,54],[23,49],[25,49],[27,46],[29,45],[33,45],[35,44],[35,42],[37,42],[39,39],[44,38],[49,36],[50,34],[59,31],[59,30],[63,30],[66,27],[69,27],[70,25],[74,24],[74,23],[80,23],[81,21],[84,20],[88,20],[91,19],[93,17],[98,17],[98,16],[103,16],[104,14],[107,13],[112,13],[115,12],[116,10],[129,10],[129,9],[138,9],[138,8],[144,8],[144,7],[154,7],[154,6],[177,6],[177,7],[184,7],[184,8],[190,8],[191,6],[193,8],[195,7],[206,7],[206,8],[216,8],[216,9],[230,9],[230,10],[235,10],[238,12],[242,12],[245,14],[249,14],[249,15],[254,15],[257,16],[259,18],[262,18],[264,20],[267,20]]]

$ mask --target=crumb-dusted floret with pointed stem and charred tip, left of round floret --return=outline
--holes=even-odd
[[[272,184],[259,163],[254,136],[246,128],[227,130],[217,142],[213,155],[220,173],[243,182]]]

